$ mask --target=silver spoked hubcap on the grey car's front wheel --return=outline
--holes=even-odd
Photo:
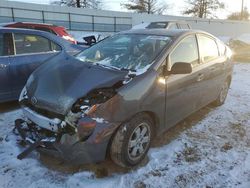
[[[129,138],[128,156],[131,160],[139,159],[150,143],[150,128],[147,123],[138,125]]]

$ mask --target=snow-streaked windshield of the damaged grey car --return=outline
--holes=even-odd
[[[169,42],[166,36],[119,34],[84,50],[77,59],[119,70],[139,71],[148,68]]]

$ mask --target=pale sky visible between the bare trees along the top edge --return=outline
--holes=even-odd
[[[1,1],[1,0],[0,0]],[[40,3],[40,4],[49,4],[54,0],[15,0],[22,2],[31,2],[31,3]],[[120,6],[121,3],[127,2],[126,0],[101,0],[104,4],[103,9],[106,10],[116,10],[116,11],[127,11],[123,7]],[[181,15],[182,11],[185,10],[187,5],[185,4],[186,0],[159,0],[162,2],[166,2],[169,4],[169,10],[166,14],[170,15]],[[226,16],[232,12],[241,10],[241,0],[221,0],[225,3],[225,10],[219,10],[217,16],[219,18],[226,18]],[[250,9],[250,0],[244,0],[245,6]]]

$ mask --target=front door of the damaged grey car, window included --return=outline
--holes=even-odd
[[[177,63],[185,62],[192,64],[191,74],[170,75],[166,78],[166,123],[173,126],[197,110],[200,99],[201,69],[199,53],[195,35],[189,35],[182,39],[168,58],[169,69]]]

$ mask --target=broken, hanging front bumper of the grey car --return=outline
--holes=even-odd
[[[108,143],[116,126],[97,122],[94,132],[84,141],[79,141],[77,134],[54,133],[37,126],[35,122],[22,119],[15,121],[15,129],[21,140],[28,145],[17,156],[18,159],[25,158],[36,149],[73,164],[86,164],[105,160]]]

